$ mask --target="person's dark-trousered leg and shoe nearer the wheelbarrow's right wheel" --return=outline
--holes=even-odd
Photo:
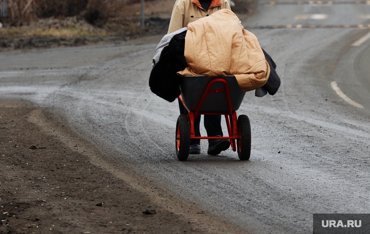
[[[221,126],[221,115],[204,115],[204,127],[208,136],[223,136]],[[226,139],[208,140],[208,151],[210,155],[218,155],[221,151],[230,147],[230,141]]]

